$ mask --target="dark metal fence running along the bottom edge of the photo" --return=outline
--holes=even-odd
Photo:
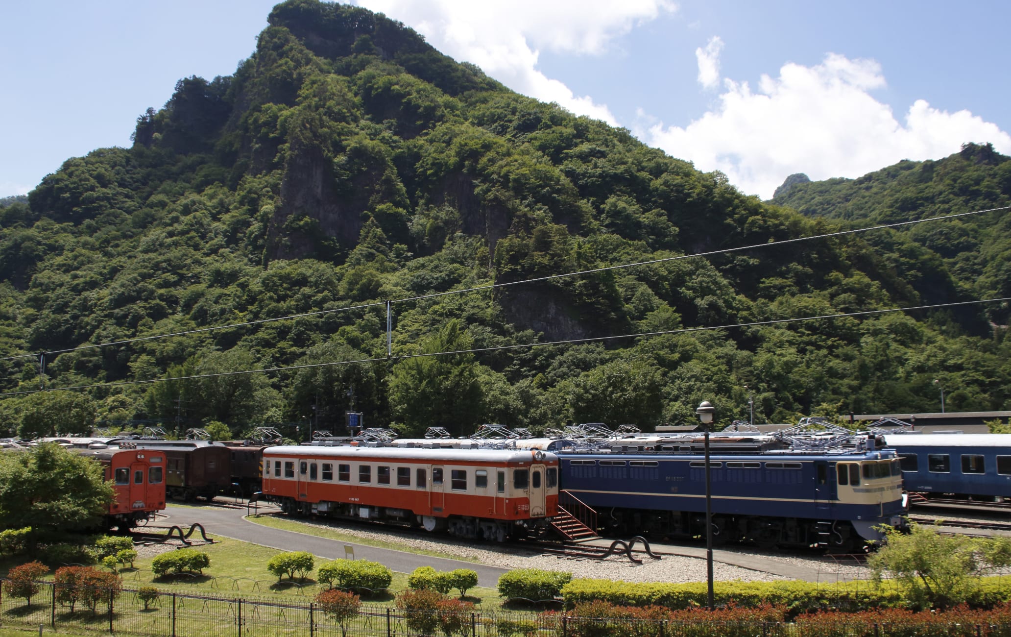
[[[24,598],[0,597],[0,626],[44,625],[73,632],[115,632],[166,637],[1011,637],[1011,624],[954,624],[932,621],[888,624],[839,621],[778,622],[655,621],[572,617],[563,612],[494,611],[409,614],[394,608],[362,605],[357,614],[337,621],[310,598],[228,598],[161,592],[155,600],[140,589],[96,596],[94,610],[79,603],[74,610],[58,601],[52,582],[38,582],[31,605]]]

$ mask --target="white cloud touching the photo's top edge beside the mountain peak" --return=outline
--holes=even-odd
[[[511,89],[579,114],[617,120],[606,104],[575,95],[537,69],[540,51],[600,55],[636,24],[674,10],[671,0],[359,0],[400,20],[439,51],[476,64]]]

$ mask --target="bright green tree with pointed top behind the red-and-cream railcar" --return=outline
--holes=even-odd
[[[419,436],[429,427],[445,427],[455,436],[480,424],[483,395],[477,363],[471,354],[444,354],[467,350],[473,341],[458,321],[449,321],[425,339],[422,354],[393,366],[389,381],[390,410],[404,434]]]

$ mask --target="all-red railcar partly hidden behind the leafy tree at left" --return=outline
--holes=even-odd
[[[165,453],[152,449],[74,449],[105,469],[113,499],[106,526],[128,529],[165,509]]]

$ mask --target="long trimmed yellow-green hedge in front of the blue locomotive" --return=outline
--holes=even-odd
[[[996,577],[990,581],[985,579],[980,592],[970,601],[971,606],[993,608],[1011,600],[1011,587],[999,584]],[[618,606],[691,609],[706,606],[707,590],[704,581],[663,583],[573,579],[562,587],[561,597],[569,608],[600,600]],[[877,587],[866,581],[847,581],[831,586],[808,581],[718,581],[714,585],[714,594],[718,606],[771,604],[786,607],[795,614],[829,609],[857,612],[909,606],[902,590],[889,580]]]

